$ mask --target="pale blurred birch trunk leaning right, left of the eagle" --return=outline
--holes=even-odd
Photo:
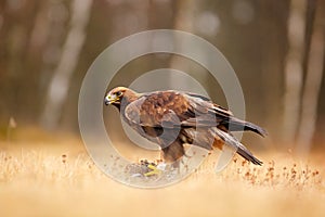
[[[72,4],[70,30],[63,46],[60,63],[50,82],[47,102],[41,115],[44,127],[55,128],[66,100],[70,78],[79,60],[86,39],[86,27],[91,12],[92,0],[74,0]]]

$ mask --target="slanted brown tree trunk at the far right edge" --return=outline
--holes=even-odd
[[[308,154],[312,145],[324,71],[324,8],[318,4],[315,9],[297,139],[297,150],[301,154]]]

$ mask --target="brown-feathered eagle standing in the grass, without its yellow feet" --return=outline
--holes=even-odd
[[[247,161],[262,164],[231,131],[250,130],[265,136],[265,130],[234,117],[203,95],[174,90],[136,93],[117,87],[105,95],[105,104],[115,105],[136,132],[159,144],[167,162],[182,157],[183,144],[187,143],[207,150],[222,150],[226,144]]]

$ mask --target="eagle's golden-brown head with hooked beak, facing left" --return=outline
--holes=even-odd
[[[122,100],[126,103],[130,103],[135,99],[138,99],[138,93],[133,90],[126,87],[117,87],[107,92],[104,99],[104,103],[105,105],[112,104],[120,107]]]

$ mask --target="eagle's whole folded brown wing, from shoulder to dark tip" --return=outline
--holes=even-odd
[[[261,136],[266,133],[261,127],[234,117],[230,111],[195,93],[160,91],[143,94],[126,107],[125,116],[142,127],[220,127],[231,131],[251,130]]]

